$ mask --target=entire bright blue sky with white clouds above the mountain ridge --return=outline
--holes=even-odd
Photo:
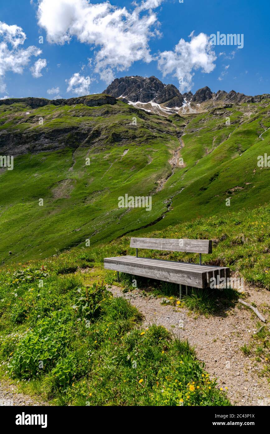
[[[0,97],[71,98],[125,75],[270,93],[269,16],[267,0],[1,2]],[[217,32],[243,34],[243,48],[209,45]]]

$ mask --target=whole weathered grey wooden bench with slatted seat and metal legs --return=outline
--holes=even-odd
[[[115,256],[104,258],[104,268],[135,276],[164,280],[180,285],[180,299],[182,286],[206,288],[210,279],[230,277],[228,267],[202,265],[202,253],[212,253],[212,240],[185,240],[170,238],[131,238],[130,247],[136,249],[136,256]],[[138,257],[138,249],[171,250],[174,252],[199,253],[199,264],[181,261]]]

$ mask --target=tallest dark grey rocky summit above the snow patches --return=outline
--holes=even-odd
[[[183,96],[172,84],[164,85],[154,76],[147,77],[122,77],[115,79],[103,93],[115,98],[125,98],[131,102],[156,102],[167,107],[181,107]]]

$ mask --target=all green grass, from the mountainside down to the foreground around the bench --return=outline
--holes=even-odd
[[[269,168],[257,167],[270,132],[259,139],[261,124],[270,125],[269,102],[185,118],[123,102],[2,105],[1,145],[12,133],[12,152],[24,143],[26,153],[15,156],[13,171],[0,171],[1,374],[56,405],[228,405],[188,342],[160,326],[141,329],[140,312],[98,282],[115,283],[103,258],[135,254],[132,234],[211,239],[202,263],[229,266],[245,283],[270,289]],[[185,125],[184,167],[172,173]],[[151,195],[152,210],[119,208],[125,194]],[[193,253],[139,255],[198,262]],[[121,279],[132,288],[132,276]],[[175,285],[137,280],[176,303]],[[184,302],[209,316],[220,300],[225,309],[235,303],[225,290],[196,290]],[[242,351],[264,358],[269,374],[268,330],[253,339]]]

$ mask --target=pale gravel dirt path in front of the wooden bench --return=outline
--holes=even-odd
[[[257,317],[255,319],[251,311],[239,309],[237,305],[228,310],[227,315],[196,319],[187,309],[161,305],[161,299],[143,296],[141,290],[123,294],[118,286],[108,289],[116,297],[129,299],[140,310],[145,316],[144,326],[154,322],[164,325],[181,339],[187,338],[195,346],[199,360],[205,363],[206,371],[212,378],[218,378],[219,387],[228,387],[232,404],[259,405],[258,400],[265,402],[266,398],[270,402],[267,379],[257,375],[262,365],[254,366],[254,358],[244,356],[239,349],[249,344],[255,332]],[[256,300],[258,307],[265,302],[269,305],[269,291],[248,289],[248,293],[249,303]]]

